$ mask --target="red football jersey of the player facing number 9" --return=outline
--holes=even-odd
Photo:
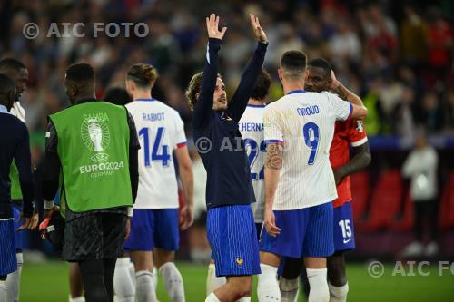
[[[361,120],[349,119],[346,122],[336,122],[330,149],[332,169],[349,162],[349,145],[356,147],[366,141],[367,135]],[[337,190],[338,199],[334,200],[334,208],[341,207],[344,203],[351,201],[350,176],[341,181]]]

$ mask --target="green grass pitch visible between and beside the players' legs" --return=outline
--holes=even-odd
[[[191,263],[177,263],[180,268],[186,301],[201,302],[205,299],[206,266]],[[394,264],[385,265],[380,278],[372,278],[367,264],[349,264],[349,302],[400,301],[400,302],[448,302],[454,293],[454,265],[452,270],[445,269],[439,276],[439,266],[423,267],[422,276],[416,267],[412,274],[410,268],[401,268],[393,276]],[[395,271],[396,272],[396,271]],[[404,273],[407,276],[403,276]],[[415,275],[415,276],[410,276]],[[254,280],[252,301],[257,300],[256,279]],[[44,264],[26,263],[22,273],[21,302],[65,302],[68,301],[68,266],[65,262],[50,261]],[[163,279],[159,279],[158,298],[169,302]],[[305,301],[300,297],[299,301]]]

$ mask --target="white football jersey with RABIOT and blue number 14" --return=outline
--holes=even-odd
[[[135,122],[139,151],[139,189],[134,209],[178,208],[173,151],[186,145],[180,114],[155,99],[140,99],[126,108]]]

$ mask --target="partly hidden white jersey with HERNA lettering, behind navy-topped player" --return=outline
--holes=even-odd
[[[254,220],[256,223],[263,222],[265,210],[265,184],[264,184],[264,156],[266,146],[263,137],[263,112],[265,105],[248,105],[246,111],[238,124],[242,139],[248,154],[249,164],[251,167],[252,187],[254,190],[255,200],[252,203]]]

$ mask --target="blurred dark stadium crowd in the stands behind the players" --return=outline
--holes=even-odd
[[[247,19],[252,12],[260,17],[270,42],[265,68],[276,81],[269,102],[281,97],[276,69],[284,51],[300,49],[310,59],[326,58],[341,83],[369,108],[364,123],[374,161],[370,191],[380,182],[382,170],[400,170],[411,141],[424,128],[438,142],[440,200],[454,169],[450,163],[454,144],[449,142],[454,134],[452,5],[450,0],[2,1],[0,57],[15,57],[28,67],[28,89],[21,102],[35,161],[43,154],[46,116],[69,105],[64,72],[74,62],[94,65],[99,98],[107,88],[124,85],[133,63],[153,64],[160,73],[153,96],[180,112],[191,137],[192,113],[183,93],[192,74],[202,71],[207,42],[204,17],[214,12],[228,26],[220,71],[232,95],[256,44]],[[40,28],[35,39],[23,34],[30,22]],[[51,23],[79,22],[87,30],[83,38],[71,31],[66,37],[46,36]],[[94,38],[89,31],[95,22],[143,22],[150,34]],[[374,137],[378,139],[373,144]],[[401,141],[407,144],[402,147]],[[405,185],[402,180],[403,190]]]

